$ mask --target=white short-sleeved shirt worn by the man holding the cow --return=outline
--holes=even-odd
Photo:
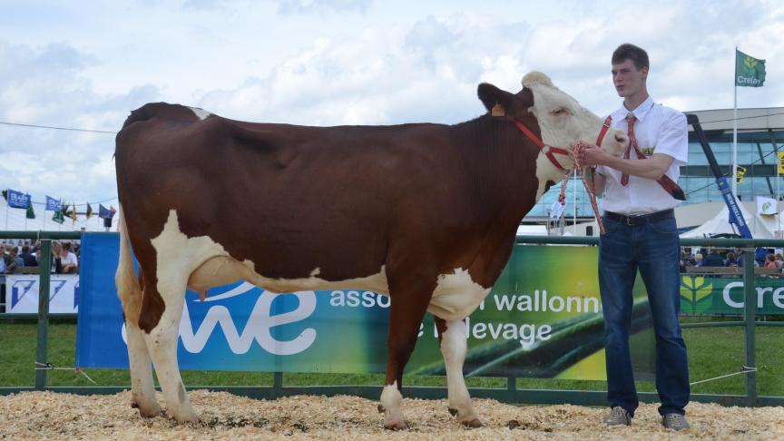
[[[640,151],[648,157],[653,153],[671,156],[673,161],[666,174],[672,181],[677,182],[678,177],[681,176],[681,165],[686,165],[689,159],[686,115],[662,104],[653,103],[649,95],[648,99],[632,111],[623,105],[615,111],[613,128],[628,132],[626,115],[629,113],[637,117],[637,122],[634,123],[634,136]],[[633,148],[629,157],[637,160]],[[606,178],[602,201],[604,211],[640,215],[675,208],[681,202],[664,191],[662,186],[652,179],[630,175],[629,183],[622,186],[621,171],[600,165],[596,167],[596,172]]]

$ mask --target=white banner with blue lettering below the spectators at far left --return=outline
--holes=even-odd
[[[40,276],[38,274],[5,275],[5,312],[37,314]],[[76,314],[79,308],[79,275],[52,274],[49,280],[49,312]]]

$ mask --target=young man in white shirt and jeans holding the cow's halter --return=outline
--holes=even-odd
[[[689,427],[689,365],[678,322],[681,244],[673,208],[685,196],[678,184],[688,157],[686,117],[648,94],[648,54],[633,44],[613,53],[613,84],[623,98],[613,127],[629,133],[622,158],[590,146],[578,158],[595,165],[594,190],[604,193],[605,234],[599,240],[599,288],[604,314],[608,426],[630,425],[639,405],[634,387],[629,328],[632,287],[640,270],[656,335],[656,389],[662,424]]]

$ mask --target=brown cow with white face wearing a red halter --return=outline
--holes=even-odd
[[[463,377],[466,317],[504,270],[524,215],[572,165],[573,145],[618,155],[628,144],[544,73],[522,83],[518,93],[479,84],[488,113],[455,125],[253,123],[168,103],[133,111],[115,150],[132,406],[161,414],[152,361],[168,417],[198,420],[177,363],[184,292],[203,299],[244,279],[273,292],[389,296],[378,407],[390,429],[407,427],[403,369],[430,311],[449,410],[481,426]]]

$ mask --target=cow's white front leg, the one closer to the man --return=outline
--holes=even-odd
[[[446,321],[436,317],[439,346],[446,365],[446,386],[449,394],[449,412],[456,415],[457,421],[469,427],[481,427],[476,417],[471,397],[463,377],[463,364],[466,361],[466,320]]]

